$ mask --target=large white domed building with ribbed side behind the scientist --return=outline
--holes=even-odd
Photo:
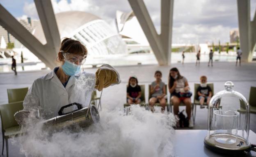
[[[88,49],[89,56],[125,54],[126,44],[120,35],[107,22],[91,13],[66,11],[55,14],[61,38],[79,40]],[[34,36],[46,44],[41,24],[36,27]]]

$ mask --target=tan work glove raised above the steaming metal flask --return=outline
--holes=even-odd
[[[102,91],[110,85],[119,84],[121,82],[119,73],[109,64],[103,64],[96,71],[95,88]]]

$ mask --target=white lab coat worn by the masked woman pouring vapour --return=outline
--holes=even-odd
[[[89,105],[95,74],[82,72],[79,76],[71,76],[64,87],[54,69],[34,81],[23,102],[23,110],[39,110],[40,116],[49,119],[58,116],[59,109],[67,104],[77,102],[83,107]]]

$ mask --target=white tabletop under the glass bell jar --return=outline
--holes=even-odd
[[[174,131],[174,157],[227,157],[208,150],[204,144],[207,130],[175,130]],[[256,144],[256,133],[250,130],[249,141]],[[251,157],[256,152],[251,151]]]

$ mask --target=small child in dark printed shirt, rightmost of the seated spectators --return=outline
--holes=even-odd
[[[200,86],[197,88],[198,100],[200,101],[200,108],[204,108],[203,102],[207,102],[209,105],[210,98],[212,96],[212,89],[207,85],[207,77],[200,77]]]

